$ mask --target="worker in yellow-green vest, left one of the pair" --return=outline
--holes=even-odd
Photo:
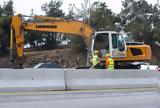
[[[100,66],[99,66],[99,51],[98,50],[95,50],[94,51],[94,55],[93,55],[93,58],[92,58],[92,64],[93,64],[93,68],[94,69],[99,69]]]

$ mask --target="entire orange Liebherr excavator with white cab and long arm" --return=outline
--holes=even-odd
[[[26,21],[25,17],[34,20]],[[12,17],[10,35],[10,57],[16,61],[17,67],[23,67],[24,31],[44,31],[80,36],[87,46],[87,65],[95,50],[101,53],[100,60],[105,62],[105,55],[110,54],[115,61],[115,67],[127,66],[133,62],[149,62],[151,48],[149,45],[127,45],[124,37],[115,31],[95,31],[83,21],[46,16],[24,16],[21,14]],[[13,59],[17,53],[17,59]]]

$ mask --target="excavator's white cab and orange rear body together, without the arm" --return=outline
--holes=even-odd
[[[92,44],[89,59],[92,58],[94,50],[100,52],[100,60],[105,63],[106,54],[110,54],[115,61],[115,68],[138,69],[139,64],[134,62],[149,62],[151,60],[151,48],[149,45],[127,45],[122,34],[115,31],[99,31],[92,36]]]

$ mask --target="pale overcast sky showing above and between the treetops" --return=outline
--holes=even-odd
[[[0,0],[0,4],[3,5],[3,2],[8,0]],[[14,1],[14,10],[17,13],[29,15],[31,13],[31,9],[34,10],[34,13],[37,15],[43,14],[41,11],[42,4],[49,2],[50,0],[13,0]],[[94,1],[102,1],[106,2],[108,7],[115,13],[119,13],[121,11],[121,1],[122,0],[90,0],[91,3]],[[149,3],[156,3],[157,0],[146,0]],[[84,0],[63,0],[62,9],[65,13],[68,12],[68,7],[70,3],[74,3],[76,7],[80,8],[81,4]]]

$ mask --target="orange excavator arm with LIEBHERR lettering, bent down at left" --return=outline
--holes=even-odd
[[[83,37],[87,46],[90,44],[90,39],[94,30],[82,21],[66,20],[60,18],[32,16],[36,19],[34,21],[23,21],[24,16],[18,14],[13,16],[11,24],[10,49],[11,55],[13,53],[16,43],[18,53],[18,64],[22,65],[23,48],[24,48],[24,30],[57,32],[70,34],[72,36]],[[11,56],[12,57],[12,56]]]

